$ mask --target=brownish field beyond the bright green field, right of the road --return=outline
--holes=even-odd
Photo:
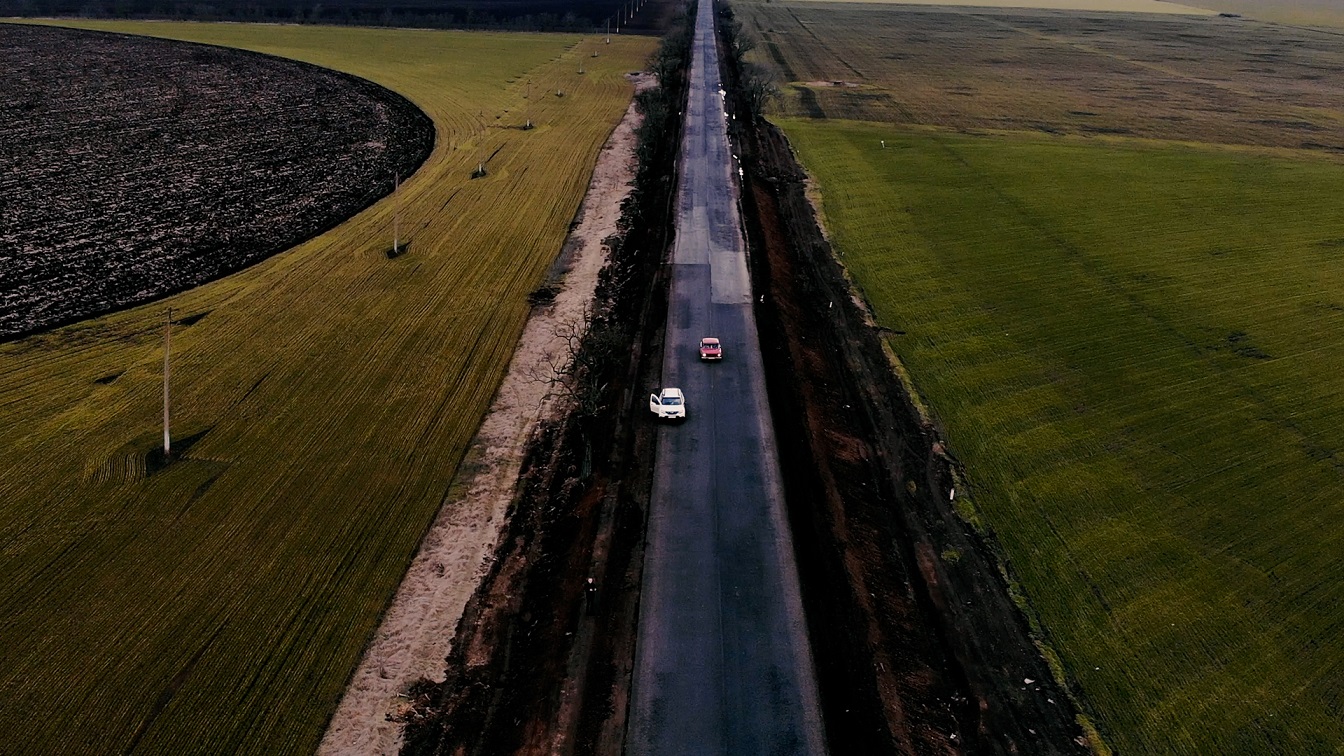
[[[745,3],[788,116],[1344,152],[1344,36],[1219,17]]]

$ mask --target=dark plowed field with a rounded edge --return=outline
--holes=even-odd
[[[0,24],[0,340],[218,278],[434,145],[378,85],[280,58]]]

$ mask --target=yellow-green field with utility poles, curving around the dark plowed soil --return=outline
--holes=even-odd
[[[388,198],[228,278],[0,346],[0,751],[312,752],[653,40],[81,26],[349,71],[438,129],[396,199],[407,254],[384,254]],[[173,335],[184,459],[152,469],[169,305],[200,317]]]

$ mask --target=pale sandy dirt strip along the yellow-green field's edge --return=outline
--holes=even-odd
[[[646,75],[630,78],[637,89],[655,83]],[[320,756],[396,753],[401,725],[387,717],[403,701],[399,694],[421,677],[444,679],[444,659],[457,621],[487,573],[513,498],[523,445],[538,420],[559,409],[547,395],[546,382],[536,377],[547,375],[552,361],[564,356],[566,342],[556,336],[556,327],[581,322],[593,300],[598,272],[606,262],[602,239],[616,233],[621,202],[634,178],[638,124],[632,102],[598,155],[582,219],[567,242],[574,258],[560,292],[554,304],[538,308],[528,320],[508,375],[458,469],[453,490],[465,494],[444,503],[425,535],[327,728]]]

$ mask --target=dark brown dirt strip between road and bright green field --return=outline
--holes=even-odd
[[[739,106],[734,124],[750,122]],[[952,506],[956,463],[887,362],[786,140],[763,121],[734,139],[831,751],[1087,753],[991,545]]]

